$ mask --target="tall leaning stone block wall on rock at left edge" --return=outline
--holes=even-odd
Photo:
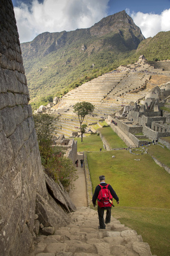
[[[0,1],[0,255],[28,255],[33,237],[75,210],[41,166],[11,0]],[[41,227],[41,228],[40,228]]]

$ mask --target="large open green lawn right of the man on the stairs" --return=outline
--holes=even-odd
[[[137,230],[143,241],[149,243],[152,254],[169,256],[168,172],[150,155],[134,155],[126,150],[88,152],[87,159],[93,192],[99,184],[99,176],[105,175],[120,198],[120,205],[113,203],[116,206],[112,209],[114,217]]]

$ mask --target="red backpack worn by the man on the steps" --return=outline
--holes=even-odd
[[[99,205],[99,207],[112,207],[112,195],[111,192],[108,189],[108,185],[106,186],[102,186],[99,184],[99,186],[101,187],[100,191],[99,191],[99,195],[97,197],[97,204]]]

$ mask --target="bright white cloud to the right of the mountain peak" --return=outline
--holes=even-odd
[[[145,38],[153,37],[160,31],[170,30],[170,9],[164,10],[160,15],[154,13],[132,13],[134,23],[141,28]]]

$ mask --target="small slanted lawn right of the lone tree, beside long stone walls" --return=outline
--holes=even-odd
[[[124,148],[127,147],[126,144],[122,141],[120,137],[114,131],[112,128],[109,127],[104,127],[99,129],[100,133],[105,137],[107,140],[109,146],[111,148]]]

